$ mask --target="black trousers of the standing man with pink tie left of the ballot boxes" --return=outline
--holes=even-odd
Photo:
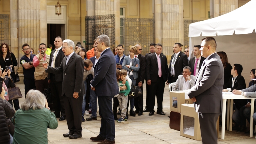
[[[165,88],[165,81],[164,78],[159,78],[156,82],[151,82],[151,85],[148,85],[147,87],[147,94],[149,95],[149,105],[147,106],[148,110],[150,112],[155,112],[155,96],[158,103],[157,111],[162,111],[162,101],[164,97],[164,88]]]

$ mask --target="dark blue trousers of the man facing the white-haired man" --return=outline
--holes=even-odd
[[[116,129],[112,112],[112,99],[114,96],[99,96],[99,114],[101,116],[101,128],[99,136],[106,140],[114,140]]]

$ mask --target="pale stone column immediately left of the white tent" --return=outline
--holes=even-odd
[[[155,0],[155,39],[168,62],[174,43],[184,43],[183,0]]]

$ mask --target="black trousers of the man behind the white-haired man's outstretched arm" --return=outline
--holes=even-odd
[[[57,82],[55,80],[55,75],[51,74],[50,78],[50,88],[51,95],[53,99],[53,111],[56,117],[63,116],[66,117],[65,114],[65,106],[64,106],[64,97],[62,96],[62,81]]]

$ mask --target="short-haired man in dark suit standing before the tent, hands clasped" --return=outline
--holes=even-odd
[[[203,144],[217,144],[216,123],[222,112],[224,69],[213,37],[202,39],[201,55],[206,58],[188,96],[198,113]]]

